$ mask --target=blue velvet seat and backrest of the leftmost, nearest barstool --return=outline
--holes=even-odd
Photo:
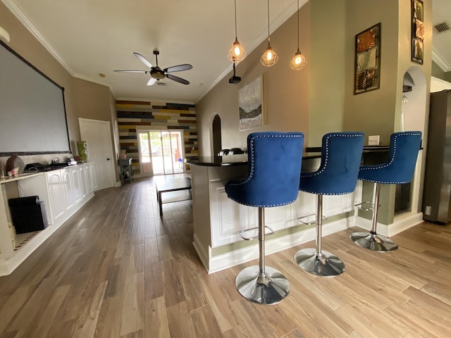
[[[304,134],[302,132],[254,132],[247,137],[249,175],[229,181],[230,199],[247,206],[271,207],[297,199]]]

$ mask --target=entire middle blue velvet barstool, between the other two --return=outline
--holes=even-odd
[[[342,195],[354,192],[363,146],[363,132],[325,134],[319,169],[314,173],[302,173],[301,175],[299,190],[316,194],[316,221],[314,222],[316,224],[316,247],[302,249],[295,254],[297,265],[308,273],[333,277],[345,271],[345,264],[337,256],[321,249],[323,195]],[[302,217],[299,220],[302,221]]]

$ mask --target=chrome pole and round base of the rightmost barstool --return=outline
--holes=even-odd
[[[379,210],[379,192],[381,191],[381,184],[374,183],[373,190],[373,216],[371,217],[371,230],[370,232],[354,232],[350,234],[350,239],[355,244],[362,246],[362,248],[369,249],[371,251],[390,252],[397,249],[397,244],[387,237],[383,237],[376,233],[376,225],[378,222],[378,210]]]

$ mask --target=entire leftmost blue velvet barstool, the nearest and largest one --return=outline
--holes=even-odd
[[[256,132],[247,137],[249,175],[226,184],[230,199],[259,208],[259,265],[242,270],[235,280],[238,292],[249,301],[275,304],[290,292],[290,283],[278,270],[265,266],[264,209],[290,204],[297,199],[301,173],[302,132]],[[240,232],[243,239],[245,232]]]

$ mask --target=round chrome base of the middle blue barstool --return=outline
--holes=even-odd
[[[345,272],[345,263],[327,251],[302,249],[295,253],[295,261],[299,268],[317,276],[335,277]]]

